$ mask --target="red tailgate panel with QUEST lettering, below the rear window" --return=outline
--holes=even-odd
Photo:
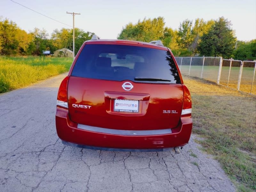
[[[132,84],[133,88],[125,91],[123,84]],[[120,103],[133,105],[132,110],[118,106]],[[75,76],[70,76],[68,81],[69,116],[78,124],[122,130],[174,128],[180,121],[182,105],[181,84],[137,83]]]

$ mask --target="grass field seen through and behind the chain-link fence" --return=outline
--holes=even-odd
[[[220,75],[220,84],[232,89],[237,89],[239,70],[240,67],[231,67],[230,76],[228,79],[229,67],[222,67]],[[239,91],[256,95],[256,74],[254,75],[254,81],[252,84],[254,72],[253,70],[253,67],[243,68]],[[202,66],[191,66],[189,76],[201,77],[202,75],[202,78],[216,83],[218,78],[218,71],[219,66],[204,66],[202,74]],[[188,75],[188,72],[188,65],[181,66],[182,75]]]

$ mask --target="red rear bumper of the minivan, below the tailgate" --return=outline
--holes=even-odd
[[[172,133],[158,135],[116,135],[77,128],[68,109],[57,106],[56,130],[64,144],[74,147],[119,151],[164,151],[188,143],[192,131],[191,116],[181,117]]]

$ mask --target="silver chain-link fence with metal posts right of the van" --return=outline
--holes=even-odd
[[[221,57],[175,57],[182,75],[204,78],[217,84],[256,95],[256,61]]]

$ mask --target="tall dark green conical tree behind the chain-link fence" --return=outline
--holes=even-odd
[[[233,36],[230,25],[231,23],[224,17],[220,17],[218,21],[215,21],[209,32],[201,37],[201,42],[198,46],[200,54],[230,58],[236,42],[236,37]]]

